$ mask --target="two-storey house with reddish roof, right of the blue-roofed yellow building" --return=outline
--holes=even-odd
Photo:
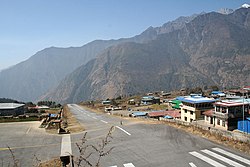
[[[249,117],[250,99],[223,100],[214,103],[214,109],[204,113],[205,123],[223,130],[237,129],[238,121]]]

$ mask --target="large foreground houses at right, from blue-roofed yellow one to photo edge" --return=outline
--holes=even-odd
[[[250,87],[227,93],[214,92],[214,95],[212,98],[201,95],[176,98],[181,102],[181,120],[203,121],[211,127],[250,133]]]

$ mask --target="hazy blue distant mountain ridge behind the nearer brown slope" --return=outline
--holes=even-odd
[[[150,27],[132,38],[97,40],[82,47],[44,49],[30,59],[0,72],[0,95],[21,101],[37,100],[49,89],[56,87],[67,74],[94,59],[109,46],[123,42],[147,43],[158,34],[182,28],[196,16],[181,17],[162,27]]]

